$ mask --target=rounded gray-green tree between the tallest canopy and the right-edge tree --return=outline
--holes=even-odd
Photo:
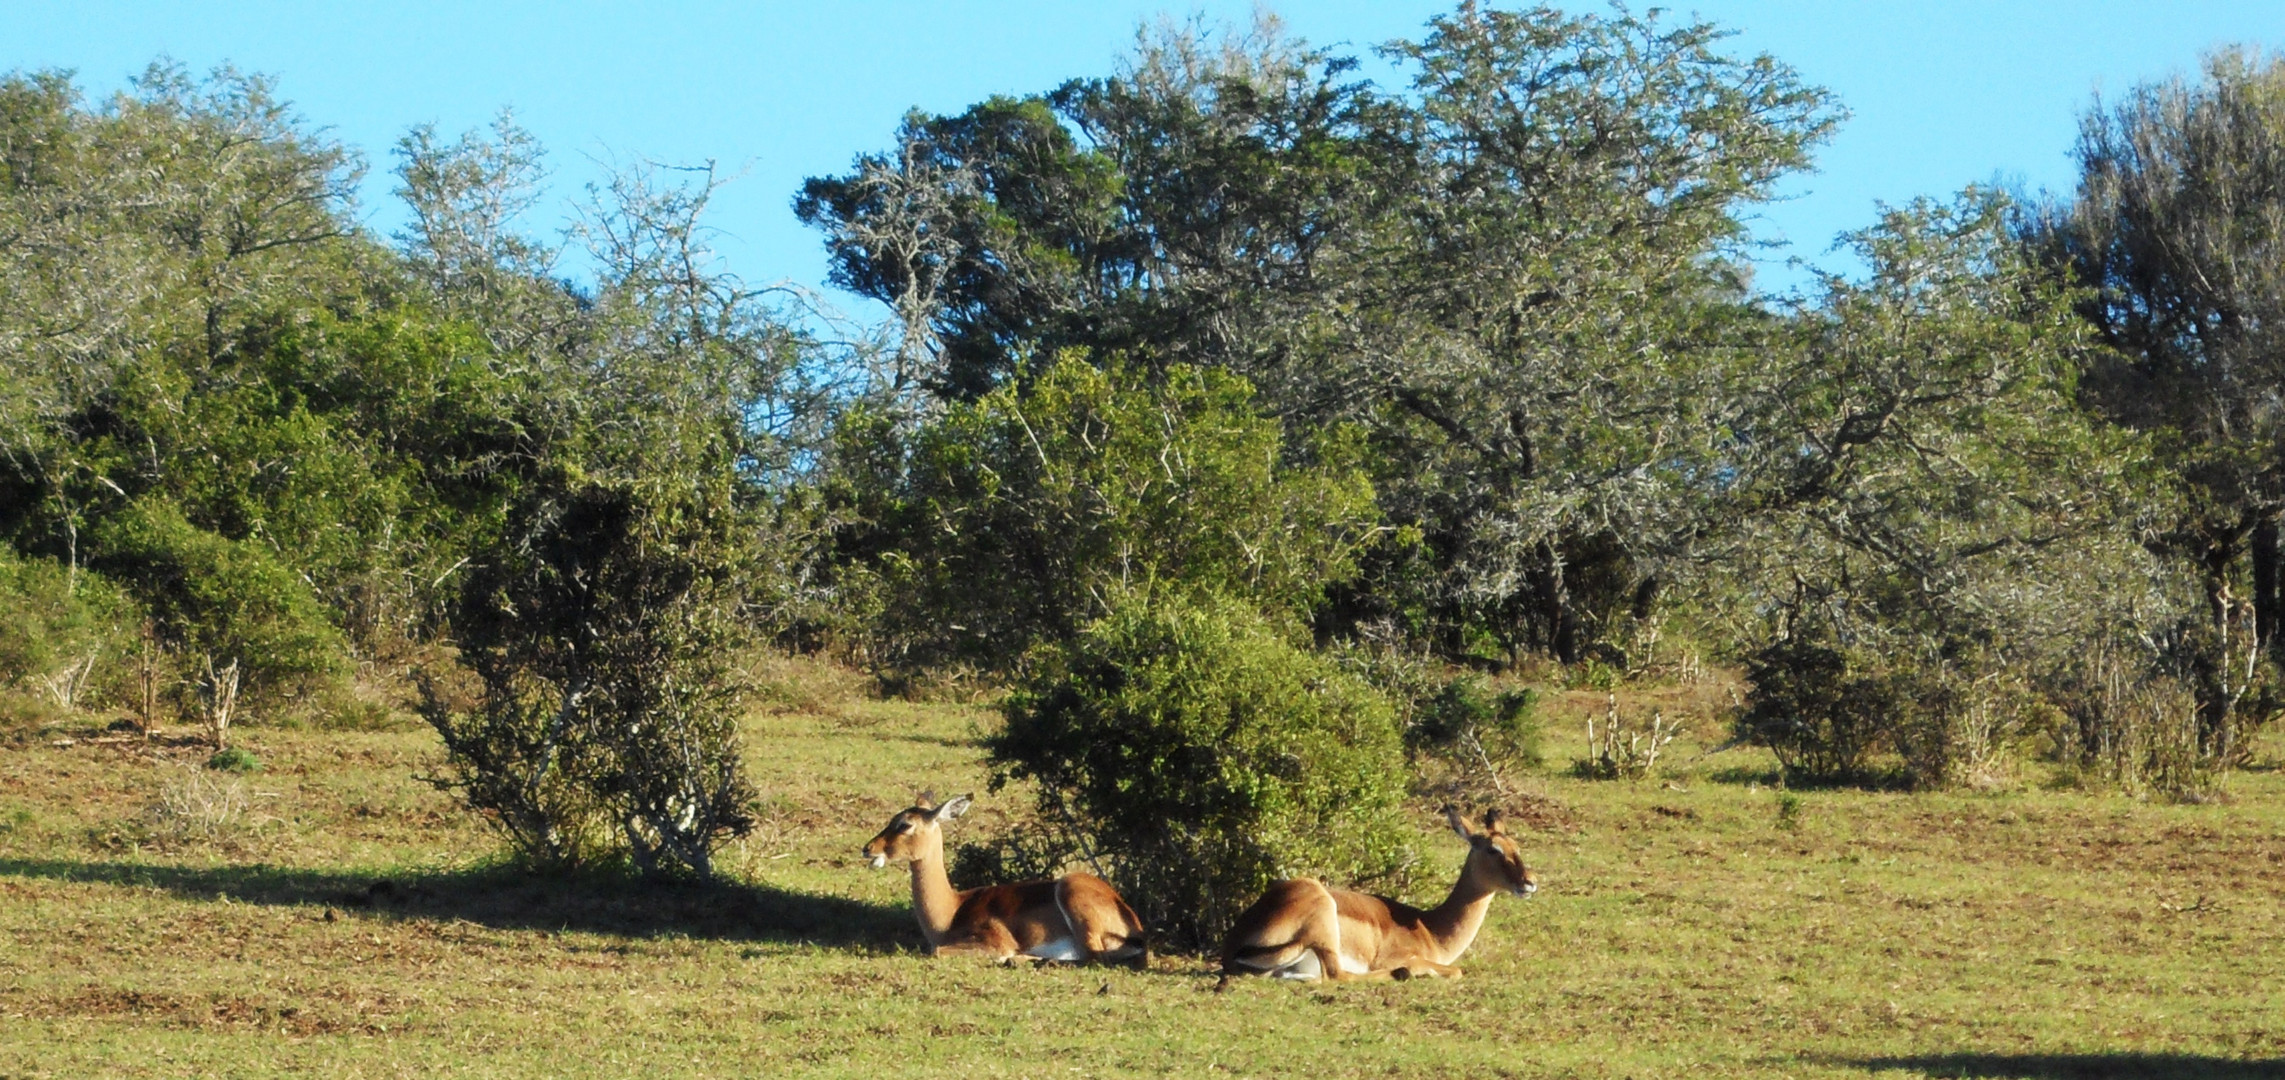
[[[1737,429],[1741,735],[1810,774],[1894,751],[1919,783],[1958,779],[2079,651],[2180,614],[2136,543],[2146,448],[2077,411],[2086,336],[2004,215],[1970,192],[1855,235],[1869,276],[1796,315]]]

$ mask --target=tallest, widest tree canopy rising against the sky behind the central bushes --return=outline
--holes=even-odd
[[[1424,543],[1341,619],[1577,660],[1689,573],[1748,358],[1737,215],[1833,110],[1698,23],[1469,2],[1428,30],[1389,46],[1396,91],[1275,25],[1145,37],[1113,78],[907,119],[800,212],[946,397],[1090,347],[1366,422]]]

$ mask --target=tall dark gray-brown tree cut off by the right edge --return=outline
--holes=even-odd
[[[2207,751],[2228,753],[2248,610],[2246,644],[2285,655],[2285,62],[2223,50],[2198,80],[2098,103],[2079,171],[2029,235],[2088,288],[2082,313],[2111,345],[2088,404],[2162,436],[2182,500],[2155,541],[2203,578],[2200,712]]]

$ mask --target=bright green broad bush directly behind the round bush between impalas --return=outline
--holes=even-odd
[[[912,432],[845,422],[843,550],[891,664],[1008,669],[1122,589],[1245,596],[1300,626],[1373,537],[1360,450],[1346,429],[1289,443],[1232,374],[1067,356]]]

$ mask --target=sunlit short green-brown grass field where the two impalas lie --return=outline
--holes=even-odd
[[[1775,792],[1766,758],[1684,744],[1652,781],[1549,767],[1515,795],[1542,890],[1494,904],[1465,980],[1211,993],[1188,957],[923,957],[905,877],[857,847],[919,788],[980,792],[992,715],[788,696],[747,733],[768,815],[733,884],[667,893],[496,870],[416,781],[414,726],[247,731],[235,820],[192,747],[18,733],[0,1078],[2285,1078],[2274,765],[2198,806]],[[1554,763],[1577,742],[1556,724]],[[201,795],[206,831],[151,811]],[[1419,822],[1458,868],[1426,799]]]

